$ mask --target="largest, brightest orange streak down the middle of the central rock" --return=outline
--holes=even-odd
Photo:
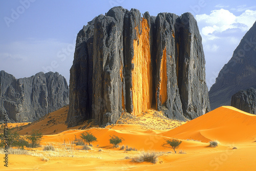
[[[132,92],[133,92],[133,115],[138,115],[151,108],[152,103],[152,67],[150,54],[150,27],[147,19],[141,22],[141,34],[136,27],[138,39],[134,40],[134,70],[132,71]]]

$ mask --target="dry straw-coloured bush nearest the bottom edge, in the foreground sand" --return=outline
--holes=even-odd
[[[133,158],[133,161],[135,162],[150,162],[153,164],[156,164],[158,161],[158,155],[156,152],[153,151],[147,151],[147,152],[140,152],[139,156],[137,158]]]

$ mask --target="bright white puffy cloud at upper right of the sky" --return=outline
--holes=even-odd
[[[222,33],[228,29],[240,29],[242,32],[249,30],[256,20],[256,11],[246,10],[236,16],[228,10],[213,10],[209,15],[196,15],[198,23],[204,23],[201,33],[209,39],[217,38],[215,33]]]

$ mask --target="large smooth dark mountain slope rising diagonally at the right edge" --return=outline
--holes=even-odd
[[[220,71],[209,91],[211,109],[230,105],[233,94],[256,89],[256,22],[244,35],[232,58]]]

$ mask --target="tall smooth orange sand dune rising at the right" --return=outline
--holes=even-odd
[[[255,127],[256,115],[231,106],[222,106],[163,135],[202,142],[218,140],[227,144],[245,143],[256,140]]]

